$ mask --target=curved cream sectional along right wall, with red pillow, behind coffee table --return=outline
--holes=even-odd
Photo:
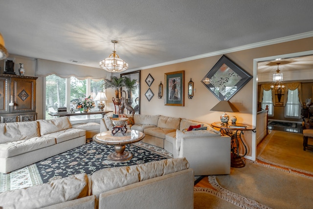
[[[209,124],[162,115],[126,115],[134,124],[128,129],[145,133],[143,142],[164,148],[174,158],[185,157],[195,175],[230,173],[230,137],[223,136]],[[112,115],[100,120],[100,132],[112,130]],[[200,126],[191,130],[190,127]],[[202,127],[202,128],[201,128]],[[198,128],[199,129],[199,128]]]

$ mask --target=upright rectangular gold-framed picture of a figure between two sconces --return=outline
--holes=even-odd
[[[184,70],[164,74],[165,105],[184,106]]]

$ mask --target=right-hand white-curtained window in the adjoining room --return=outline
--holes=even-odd
[[[288,90],[285,117],[300,118],[300,102],[298,89]]]

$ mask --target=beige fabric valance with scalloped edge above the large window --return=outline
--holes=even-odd
[[[111,76],[110,72],[102,70],[100,68],[92,68],[87,66],[37,59],[35,75],[39,77],[45,77],[51,74],[56,74],[61,78],[75,76],[77,79],[80,80],[86,78],[100,80],[110,78]]]

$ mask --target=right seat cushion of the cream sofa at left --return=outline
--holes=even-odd
[[[56,143],[61,143],[70,139],[86,136],[86,131],[78,128],[69,128],[61,130],[55,133],[46,134],[45,137],[53,137],[56,139]]]

